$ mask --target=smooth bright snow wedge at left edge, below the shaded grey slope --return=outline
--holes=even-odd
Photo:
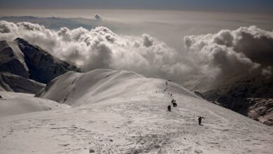
[[[34,94],[0,91],[0,118],[22,113],[67,109],[69,106],[34,97]]]

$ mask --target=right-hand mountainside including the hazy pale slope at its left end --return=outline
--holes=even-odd
[[[223,78],[221,83],[209,85],[206,78],[195,78],[185,86],[203,99],[236,111],[244,116],[273,125],[273,79],[265,76],[242,77],[240,74]]]

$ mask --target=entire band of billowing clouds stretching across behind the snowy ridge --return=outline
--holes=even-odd
[[[216,34],[185,36],[176,51],[148,34],[125,36],[106,27],[46,29],[30,22],[0,21],[0,40],[24,38],[60,59],[89,71],[127,69],[183,83],[188,76],[218,78],[237,74],[272,76],[273,32],[258,27],[223,29]]]

